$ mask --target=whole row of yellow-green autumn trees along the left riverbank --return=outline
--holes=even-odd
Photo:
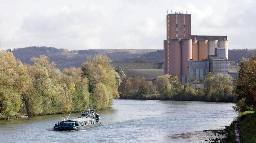
[[[119,97],[111,60],[88,58],[81,68],[61,72],[44,55],[22,64],[11,52],[0,51],[0,119],[102,109]]]

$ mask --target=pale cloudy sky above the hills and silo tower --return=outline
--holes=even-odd
[[[255,0],[0,0],[0,49],[163,49],[167,10],[189,10],[191,35],[256,47]]]

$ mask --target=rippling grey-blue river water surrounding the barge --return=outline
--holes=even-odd
[[[53,131],[68,114],[1,120],[0,142],[205,142],[203,130],[223,129],[237,116],[232,105],[117,99],[98,111],[102,126],[84,131]]]

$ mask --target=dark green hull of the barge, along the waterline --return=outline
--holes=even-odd
[[[54,126],[53,130],[54,131],[69,131],[69,130],[80,131],[80,130],[85,130],[85,129],[92,128],[95,126],[100,126],[100,125],[101,125],[101,122],[97,122],[97,123],[85,125],[85,126],[74,126],[74,125],[70,125],[70,124],[60,124],[60,125]]]

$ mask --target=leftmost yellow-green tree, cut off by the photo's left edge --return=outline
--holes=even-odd
[[[21,96],[29,81],[21,61],[16,61],[11,52],[0,51],[0,119],[18,115],[25,108]]]

